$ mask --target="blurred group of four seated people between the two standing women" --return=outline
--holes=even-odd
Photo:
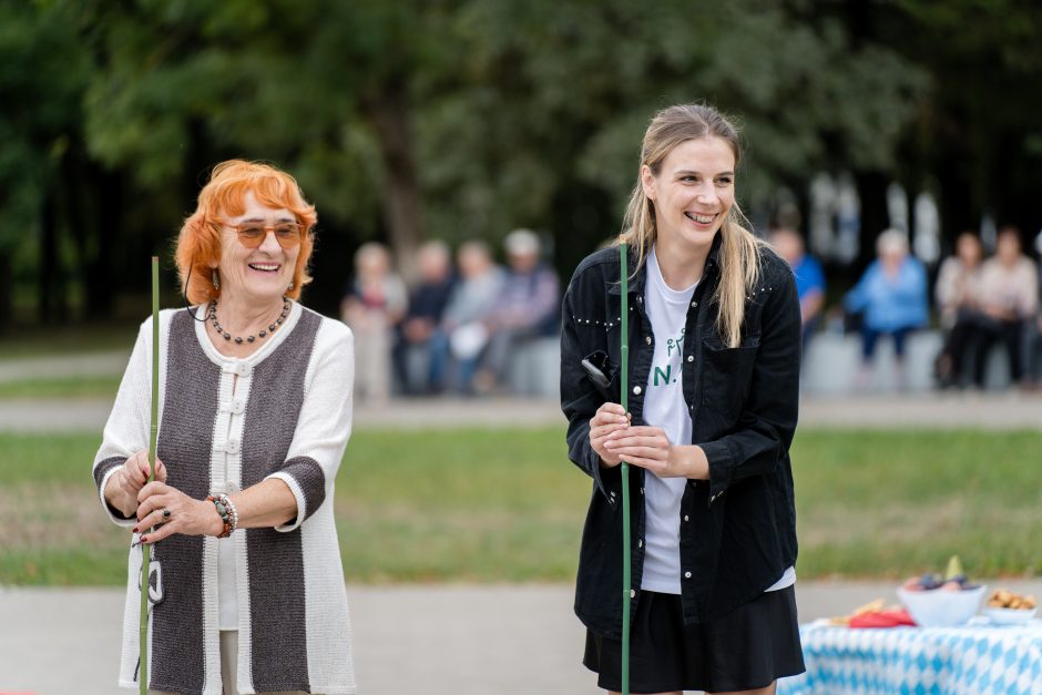
[[[556,335],[561,286],[537,234],[515,229],[503,246],[505,267],[484,242],[466,242],[454,258],[445,243],[428,242],[411,288],[385,246],[358,248],[340,316],[355,334],[361,398],[507,390],[517,350]]]

